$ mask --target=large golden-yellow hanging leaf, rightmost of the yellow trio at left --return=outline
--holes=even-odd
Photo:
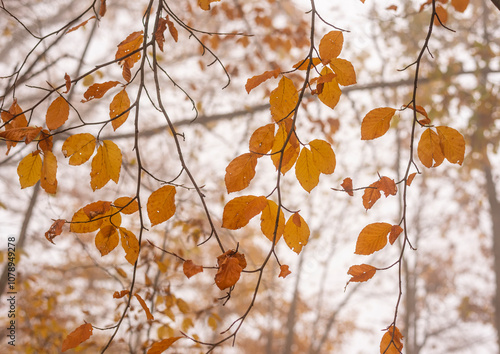
[[[101,189],[109,180],[118,183],[122,166],[120,148],[111,140],[104,140],[92,159],[90,171],[90,186],[92,190]]]

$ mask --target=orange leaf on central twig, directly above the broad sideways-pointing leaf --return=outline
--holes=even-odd
[[[250,185],[255,176],[257,155],[251,152],[236,157],[226,167],[224,182],[228,193],[237,192]]]

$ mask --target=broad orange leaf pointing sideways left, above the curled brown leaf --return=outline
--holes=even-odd
[[[266,197],[246,195],[230,200],[224,206],[222,227],[236,230],[242,228],[250,219],[259,214],[267,205]]]

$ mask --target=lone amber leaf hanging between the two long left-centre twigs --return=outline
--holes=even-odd
[[[148,198],[147,210],[151,226],[167,221],[175,214],[175,187],[163,186]]]

